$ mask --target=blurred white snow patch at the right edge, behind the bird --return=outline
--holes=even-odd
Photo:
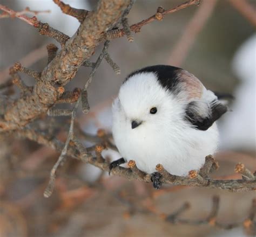
[[[220,124],[223,149],[255,150],[255,80],[256,80],[256,34],[247,39],[234,55],[234,73],[240,85],[234,92],[230,113]]]

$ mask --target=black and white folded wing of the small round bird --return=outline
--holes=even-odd
[[[221,115],[225,114],[226,111],[227,107],[224,104],[221,104],[218,100],[214,100],[208,107],[208,113],[202,115],[198,110],[198,102],[192,101],[187,105],[185,119],[196,129],[205,131],[210,128]]]

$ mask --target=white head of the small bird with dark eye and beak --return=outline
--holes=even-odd
[[[134,131],[170,126],[180,113],[174,94],[160,85],[154,72],[129,76],[120,88],[118,103],[126,124]]]

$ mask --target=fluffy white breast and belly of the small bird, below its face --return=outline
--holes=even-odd
[[[205,156],[213,155],[218,144],[215,123],[201,131],[181,119],[172,124],[166,118],[155,127],[145,123],[131,129],[118,99],[113,103],[112,132],[120,154],[127,161],[133,159],[146,173],[155,172],[156,165],[162,164],[173,175],[187,175],[190,170],[200,169]]]

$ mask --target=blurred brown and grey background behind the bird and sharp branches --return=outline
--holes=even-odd
[[[75,8],[93,9],[97,1],[65,0]],[[134,24],[156,13],[158,6],[173,8],[183,0],[139,0],[128,18]],[[235,4],[234,2],[240,2]],[[78,113],[77,121],[86,133],[98,128],[111,131],[111,103],[125,76],[135,69],[156,64],[179,66],[196,75],[204,85],[235,100],[219,121],[220,169],[214,178],[240,178],[234,165],[244,163],[256,169],[255,156],[255,14],[248,19],[241,13],[242,3],[255,13],[256,1],[204,0],[153,22],[134,35],[111,42],[109,53],[122,73],[114,74],[106,61],[99,66],[89,88],[91,111]],[[0,4],[21,11],[50,10],[37,16],[69,36],[79,23],[64,15],[51,0],[0,0]],[[248,13],[248,11],[247,11]],[[1,12],[0,12],[1,14]],[[0,18],[0,83],[8,80],[9,67],[16,61],[42,71],[47,62],[46,44],[55,43],[41,36],[32,26],[17,18]],[[58,45],[58,47],[60,47]],[[90,59],[96,60],[102,45]],[[65,90],[82,87],[90,68],[81,67]],[[34,80],[22,74],[27,85]],[[17,98],[14,88],[11,97]],[[1,91],[2,94],[6,93]],[[10,92],[8,92],[10,94]],[[60,118],[56,135],[65,141],[68,120]],[[44,126],[56,123],[45,119]],[[50,125],[49,125],[50,124]],[[191,208],[182,217],[201,219],[211,210],[213,195],[220,197],[218,220],[225,224],[244,221],[255,192],[231,193],[192,187],[165,186],[153,190],[151,184],[109,177],[99,169],[67,159],[57,172],[56,190],[49,199],[43,191],[58,153],[29,140],[0,134],[0,236],[246,236],[242,225],[224,231],[210,225],[171,224],[163,219],[186,201]],[[85,143],[87,145],[87,143]],[[119,158],[107,150],[104,156]]]

